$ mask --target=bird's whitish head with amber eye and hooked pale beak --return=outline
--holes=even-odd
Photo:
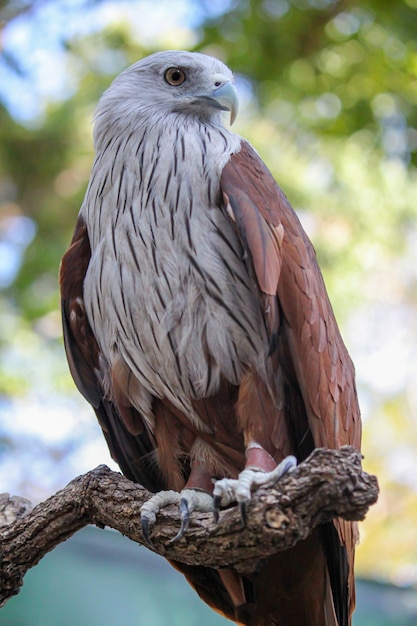
[[[221,61],[199,53],[157,52],[118,76],[100,108],[123,108],[124,114],[183,113],[210,120],[229,111],[233,123],[238,98],[233,74]]]

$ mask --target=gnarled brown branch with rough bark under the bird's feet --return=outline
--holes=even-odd
[[[377,500],[378,483],[362,470],[361,458],[348,446],[315,450],[273,488],[253,494],[245,528],[236,507],[223,511],[217,524],[208,513],[193,513],[185,537],[170,543],[179,516],[176,507],[169,506],[152,529],[155,549],[190,565],[233,566],[249,573],[261,559],[307,537],[317,524],[334,517],[364,519]],[[139,510],[151,495],[100,465],[31,512],[23,499],[0,497],[0,605],[19,592],[28,569],[87,524],[110,526],[146,545]]]

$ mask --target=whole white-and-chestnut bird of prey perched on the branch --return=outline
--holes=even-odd
[[[257,478],[314,448],[360,448],[354,366],[315,250],[232,131],[237,110],[233,73],[199,52],[156,52],[117,76],[60,267],[75,384],[122,472],[177,494],[182,533],[194,496],[219,507],[232,485],[246,515]],[[247,576],[173,564],[237,624],[349,626],[356,541],[335,519]]]

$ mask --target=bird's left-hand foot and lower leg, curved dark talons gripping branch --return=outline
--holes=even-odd
[[[193,511],[213,511],[212,490],[213,483],[210,473],[201,463],[193,460],[191,462],[190,476],[181,492],[173,490],[160,491],[141,507],[142,533],[147,543],[152,548],[154,547],[149,536],[149,527],[156,521],[159,511],[170,504],[178,505],[181,519],[181,528],[176,536],[171,539],[171,542],[181,539],[188,529],[190,514]]]

